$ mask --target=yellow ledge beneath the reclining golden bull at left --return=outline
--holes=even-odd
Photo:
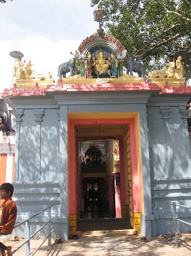
[[[17,85],[17,88],[25,89],[25,88],[32,88],[35,87],[35,83],[38,83],[38,86],[40,88],[47,88],[48,84],[55,84],[53,79],[46,79],[46,80],[40,80],[40,79],[16,79],[15,83]]]

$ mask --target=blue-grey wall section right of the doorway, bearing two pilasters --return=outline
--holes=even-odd
[[[152,235],[174,233],[172,205],[191,206],[191,151],[186,105],[189,96],[153,96],[147,104],[151,172]],[[178,216],[191,220],[191,210],[178,208]],[[180,224],[180,232],[190,230]]]

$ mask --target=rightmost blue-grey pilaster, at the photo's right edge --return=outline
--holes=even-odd
[[[188,113],[189,110],[185,110],[185,107],[179,107],[180,113],[183,119],[184,135],[185,135],[185,145],[186,145],[186,154],[187,154],[187,168],[189,167],[189,158],[190,158],[190,143],[189,143],[189,130],[188,130]]]

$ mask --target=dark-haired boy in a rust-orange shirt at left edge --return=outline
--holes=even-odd
[[[0,216],[0,234],[11,234],[17,218],[17,206],[12,200],[14,187],[10,183],[3,183],[0,185],[0,199],[4,199],[2,203],[2,213]],[[4,246],[0,243],[0,250],[2,256],[5,256],[5,250],[8,256],[12,256],[11,246]]]

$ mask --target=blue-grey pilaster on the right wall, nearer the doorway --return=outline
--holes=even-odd
[[[166,146],[166,175],[168,178],[172,177],[172,159],[171,159],[171,148],[170,148],[170,135],[168,127],[168,119],[170,107],[159,107],[162,113],[162,119],[164,121],[164,133],[165,133],[165,146]]]

